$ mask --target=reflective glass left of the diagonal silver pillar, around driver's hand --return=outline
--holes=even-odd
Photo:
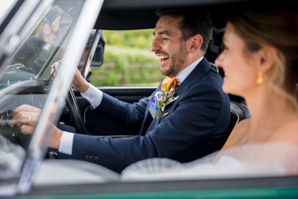
[[[0,68],[0,179],[19,175],[32,138],[12,125],[31,118],[14,121],[11,113],[24,104],[44,107],[55,79],[50,66],[62,59],[82,2],[55,1]]]

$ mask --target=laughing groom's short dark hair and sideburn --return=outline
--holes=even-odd
[[[179,29],[182,33],[182,41],[200,34],[203,37],[201,50],[206,54],[209,41],[212,37],[212,22],[207,10],[199,8],[159,8],[155,14],[158,17],[169,15],[173,18],[182,17]]]

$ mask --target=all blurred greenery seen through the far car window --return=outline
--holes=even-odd
[[[157,86],[163,79],[150,51],[153,29],[103,31],[104,62],[92,68],[94,86]]]

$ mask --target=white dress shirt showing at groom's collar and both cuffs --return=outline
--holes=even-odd
[[[181,84],[187,76],[196,68],[196,66],[203,60],[204,57],[200,57],[195,62],[190,64],[188,67],[180,71],[176,76],[176,80]],[[88,90],[81,94],[89,103],[91,108],[95,109],[102,100],[102,91],[96,89],[93,85],[90,84]],[[74,142],[74,133],[64,131],[61,137],[61,142],[59,145],[59,152],[72,155],[73,153],[73,142]]]

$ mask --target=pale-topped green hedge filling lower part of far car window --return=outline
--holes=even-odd
[[[106,45],[104,64],[92,68],[95,86],[158,85],[163,79],[154,53],[145,49]]]

